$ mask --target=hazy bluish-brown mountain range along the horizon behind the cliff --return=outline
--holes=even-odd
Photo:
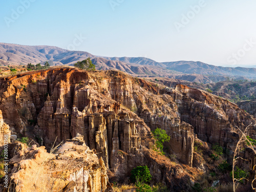
[[[103,57],[83,51],[69,51],[53,46],[23,46],[0,43],[0,64],[39,63],[74,65],[79,60],[92,58],[96,69],[117,69],[139,77],[169,77],[195,82],[216,82],[231,78],[256,78],[255,68],[218,67],[200,61],[157,62],[145,57]],[[189,80],[189,81],[190,81]]]

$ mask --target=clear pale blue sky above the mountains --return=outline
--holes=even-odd
[[[110,57],[256,65],[256,1],[0,0],[0,42]]]

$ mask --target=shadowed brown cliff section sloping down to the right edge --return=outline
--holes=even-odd
[[[249,135],[255,138],[255,119],[234,103],[209,93],[178,84],[175,90],[166,89],[178,105],[181,120],[194,127],[194,133],[202,141],[219,143],[230,150],[238,139],[236,127],[249,127]]]

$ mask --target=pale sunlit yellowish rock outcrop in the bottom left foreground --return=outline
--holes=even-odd
[[[62,144],[55,154],[36,145],[19,151],[10,159],[14,166],[10,186],[17,192],[104,191],[109,180],[104,161],[82,138],[77,136]]]

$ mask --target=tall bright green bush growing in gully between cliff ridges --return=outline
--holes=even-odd
[[[157,128],[152,133],[156,139],[156,150],[159,150],[164,155],[165,153],[163,152],[163,142],[169,141],[170,136],[166,134],[165,130],[161,130],[159,128]]]

